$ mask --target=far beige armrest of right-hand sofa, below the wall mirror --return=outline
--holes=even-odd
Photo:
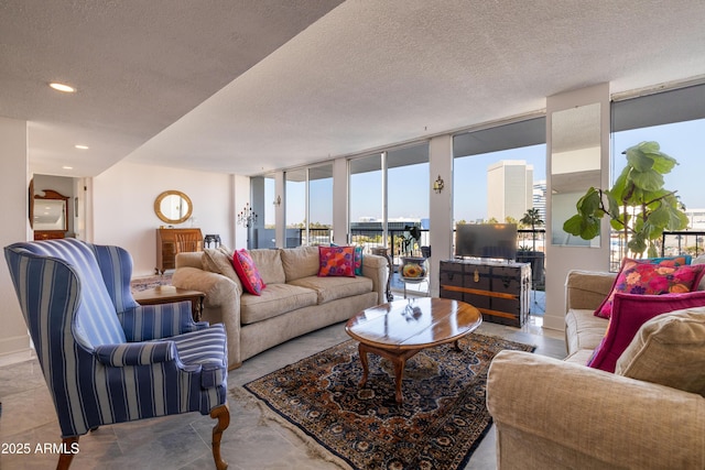
[[[597,309],[611,291],[616,277],[617,273],[577,270],[568,272],[565,280],[565,311]]]

